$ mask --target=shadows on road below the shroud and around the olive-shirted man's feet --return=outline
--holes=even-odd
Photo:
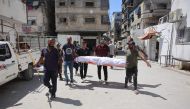
[[[107,85],[104,85],[98,81],[85,81],[85,83],[88,83],[87,85],[78,85],[75,84],[74,86],[70,86],[73,89],[88,89],[88,90],[94,90],[94,87],[99,87],[99,88],[109,88],[109,89],[121,89],[121,90],[133,90],[133,86],[130,85],[128,89],[124,88],[124,83],[119,83],[119,82],[109,82]],[[143,89],[144,87],[148,88],[157,88],[161,86],[162,84],[156,84],[156,85],[149,85],[149,84],[138,84],[138,89]],[[143,95],[149,95],[152,97],[159,97],[162,98],[163,100],[167,100],[166,98],[162,97],[161,95],[148,92],[148,91],[139,91],[140,94]]]

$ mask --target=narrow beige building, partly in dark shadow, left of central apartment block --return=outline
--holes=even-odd
[[[27,0],[29,30],[26,32],[55,35],[54,0]]]

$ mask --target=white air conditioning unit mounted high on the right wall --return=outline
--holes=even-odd
[[[175,23],[181,21],[183,18],[182,9],[177,9],[169,13],[169,22]]]

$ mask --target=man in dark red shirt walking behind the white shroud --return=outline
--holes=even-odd
[[[102,40],[98,46],[95,48],[95,55],[98,57],[108,57],[109,56],[109,47],[105,44],[105,41]],[[98,78],[99,81],[101,82],[101,69],[102,65],[98,65]],[[103,66],[104,70],[104,84],[107,84],[108,80],[108,71],[107,71],[107,66]]]

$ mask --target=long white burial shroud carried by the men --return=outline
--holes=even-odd
[[[104,65],[104,66],[115,66],[125,67],[126,61],[124,59],[109,58],[109,57],[97,57],[97,56],[79,56],[75,58],[76,62]]]

